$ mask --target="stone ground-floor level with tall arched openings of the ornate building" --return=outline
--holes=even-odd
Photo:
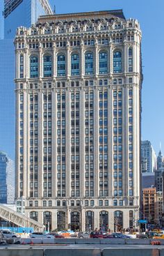
[[[101,229],[113,232],[136,227],[139,208],[135,207],[40,207],[26,209],[26,216],[43,223],[47,231],[66,230],[91,231]]]

